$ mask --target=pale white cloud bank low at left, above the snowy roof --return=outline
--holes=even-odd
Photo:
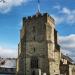
[[[0,46],[0,57],[4,58],[16,58],[18,55],[18,50],[15,48],[7,48],[4,46]]]

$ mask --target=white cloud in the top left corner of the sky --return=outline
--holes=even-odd
[[[0,12],[7,13],[12,9],[12,7],[20,6],[24,2],[27,2],[27,1],[28,0],[5,0],[4,3],[3,1],[1,1],[0,2]]]

